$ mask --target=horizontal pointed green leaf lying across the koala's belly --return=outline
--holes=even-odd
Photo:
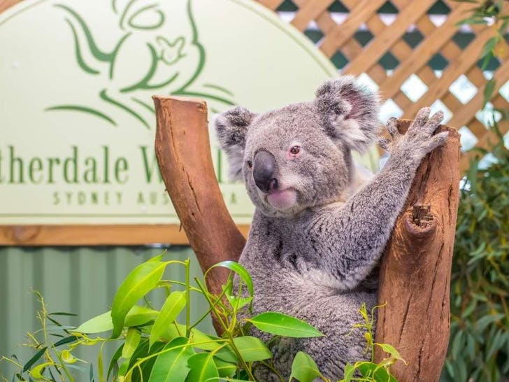
[[[248,320],[259,330],[277,336],[308,338],[323,336],[322,332],[303,320],[283,313],[261,313]]]

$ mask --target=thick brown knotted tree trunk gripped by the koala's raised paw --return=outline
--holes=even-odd
[[[400,120],[401,132],[410,121]],[[459,203],[459,134],[449,131],[419,169],[380,265],[375,340],[391,344],[408,362],[397,362],[398,381],[435,382],[449,342],[449,288]],[[375,360],[384,357],[380,348]]]

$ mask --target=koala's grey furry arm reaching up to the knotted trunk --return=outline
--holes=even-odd
[[[345,204],[324,207],[311,222],[308,235],[320,254],[320,267],[343,290],[355,288],[375,267],[422,158],[447,139],[447,132],[433,136],[442,113],[428,115],[429,108],[422,109],[404,135],[396,120],[389,120],[392,153],[382,171]]]

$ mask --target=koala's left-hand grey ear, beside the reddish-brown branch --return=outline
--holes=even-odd
[[[256,114],[237,106],[217,115],[214,120],[217,139],[228,156],[229,176],[232,181],[242,179],[245,136],[255,116]]]

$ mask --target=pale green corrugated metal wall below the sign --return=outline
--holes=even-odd
[[[77,318],[62,318],[62,323],[78,325],[88,318],[110,309],[115,290],[125,276],[148,258],[162,253],[164,248],[122,247],[64,247],[64,248],[6,248],[0,247],[0,355],[16,353],[23,362],[27,351],[19,345],[26,342],[25,334],[40,327],[36,319],[39,308],[31,292],[38,290],[45,298],[49,311],[76,313]],[[201,269],[189,247],[167,248],[166,259],[192,259],[191,277],[201,276]],[[170,266],[165,278],[184,280],[183,267]],[[192,320],[206,311],[206,302],[192,295]],[[162,294],[150,297],[161,306]],[[202,330],[213,331],[210,320]],[[105,359],[113,351],[109,348]],[[78,358],[94,361],[96,349],[76,353]],[[0,376],[10,380],[12,369],[0,363]],[[86,378],[85,378],[86,377]],[[78,378],[88,381],[87,376]],[[96,379],[97,380],[97,379]]]

